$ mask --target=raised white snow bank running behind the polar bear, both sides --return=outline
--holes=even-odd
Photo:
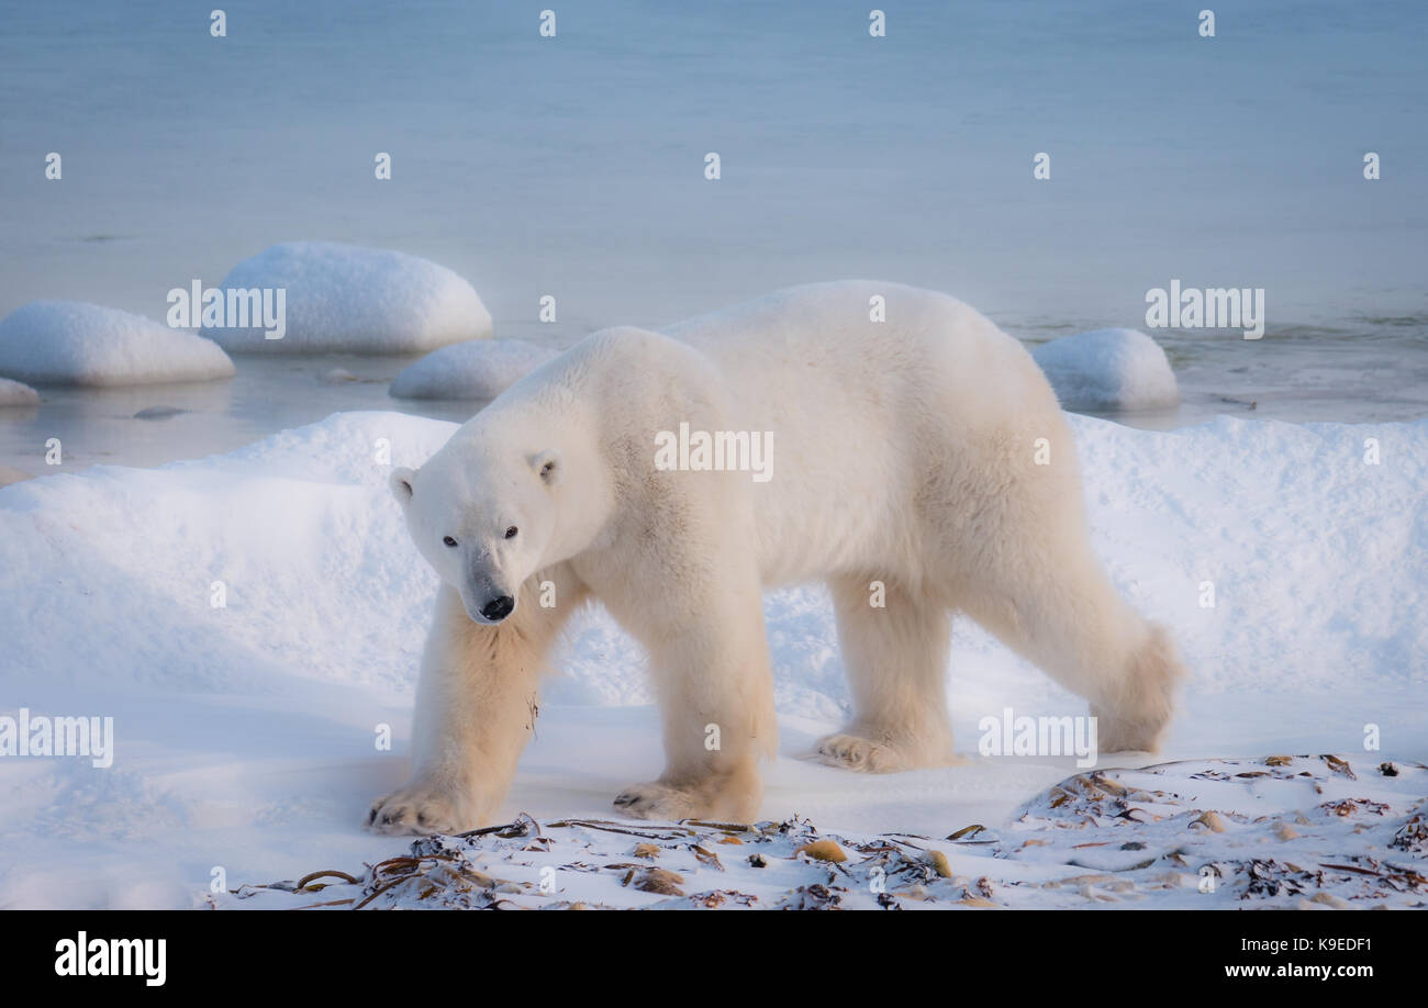
[[[1097,554],[1131,604],[1171,627],[1200,688],[1234,690],[1245,668],[1289,692],[1422,681],[1428,420],[1221,417],[1172,433],[1071,421]],[[410,687],[436,581],[387,474],[423,464],[454,430],[401,413],[338,413],[227,455],[99,465],[7,488],[0,570],[30,573],[0,581],[7,674],[79,682],[99,661],[110,682],[191,687],[196,668],[246,678],[251,648],[280,677]],[[87,591],[66,574],[70,557],[86,558]],[[227,584],[226,610],[208,607],[211,580]],[[847,694],[825,590],[770,593],[765,611],[780,708],[837,717]],[[64,632],[76,624],[87,632]],[[203,664],[190,660],[197,647]],[[957,687],[987,687],[988,665],[1045,682],[974,624],[958,624],[954,651]],[[638,654],[593,610],[551,695],[651,702],[641,661],[627,660]]]

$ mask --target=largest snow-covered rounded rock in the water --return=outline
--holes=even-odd
[[[466,280],[444,266],[387,248],[291,241],[246,258],[228,290],[284,291],[286,331],[261,324],[204,327],[234,353],[404,354],[483,340],[491,316]]]

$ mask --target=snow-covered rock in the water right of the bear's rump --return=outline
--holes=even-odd
[[[1180,390],[1165,351],[1134,328],[1098,328],[1031,351],[1067,410],[1154,410]]]

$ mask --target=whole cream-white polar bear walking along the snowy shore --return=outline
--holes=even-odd
[[[685,448],[761,437],[764,471],[734,450],[724,468],[664,451],[674,431]],[[831,588],[855,711],[817,752],[840,767],[952,761],[955,613],[1088,698],[1102,750],[1152,750],[1171,717],[1181,665],[1092,555],[1055,394],[1017,340],[945,294],[813,284],[663,333],[603,330],[391,488],[441,584],[414,775],[367,817],[383,832],[496,815],[545,652],[587,600],[648,650],[661,708],[664,772],[615,798],[630,817],[757,815],[775,745],[771,585]]]

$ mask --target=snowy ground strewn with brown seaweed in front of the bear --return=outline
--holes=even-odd
[[[1357,765],[1349,764],[1349,758]],[[1375,767],[1375,764],[1378,764]],[[1358,757],[1077,774],[947,837],[567,818],[411,842],[217,909],[1402,908],[1428,897],[1428,768]]]

